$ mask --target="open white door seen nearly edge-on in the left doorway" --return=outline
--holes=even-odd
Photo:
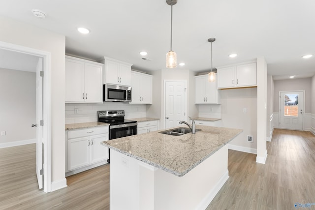
[[[36,66],[36,176],[39,189],[43,188],[43,126],[40,120],[43,119],[43,77],[40,72],[43,70],[43,59],[39,58]]]

